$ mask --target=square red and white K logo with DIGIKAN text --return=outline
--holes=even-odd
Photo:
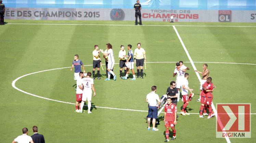
[[[216,138],[251,138],[251,104],[217,104]]]

